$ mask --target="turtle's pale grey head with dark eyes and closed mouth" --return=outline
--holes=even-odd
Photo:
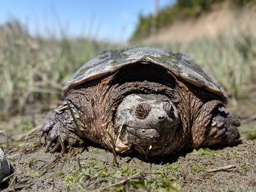
[[[132,93],[119,104],[115,127],[121,129],[123,144],[154,150],[170,143],[179,122],[178,110],[167,96]]]

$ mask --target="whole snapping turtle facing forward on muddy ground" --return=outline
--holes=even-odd
[[[104,52],[75,72],[64,93],[42,126],[52,152],[60,138],[66,145],[83,139],[147,155],[241,142],[225,91],[181,53],[153,47]]]

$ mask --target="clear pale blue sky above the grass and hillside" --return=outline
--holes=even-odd
[[[158,0],[159,9],[175,0]],[[0,0],[0,25],[10,19],[26,23],[31,34],[126,42],[138,15],[154,10],[154,0]]]

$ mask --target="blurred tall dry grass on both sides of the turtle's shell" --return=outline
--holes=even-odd
[[[29,36],[18,22],[0,26],[0,119],[23,114],[36,101],[59,99],[64,83],[81,64],[102,50],[118,47],[62,34],[59,40],[42,39]],[[189,55],[235,99],[252,97],[250,92],[256,90],[256,38],[252,35],[237,32],[154,46]]]

